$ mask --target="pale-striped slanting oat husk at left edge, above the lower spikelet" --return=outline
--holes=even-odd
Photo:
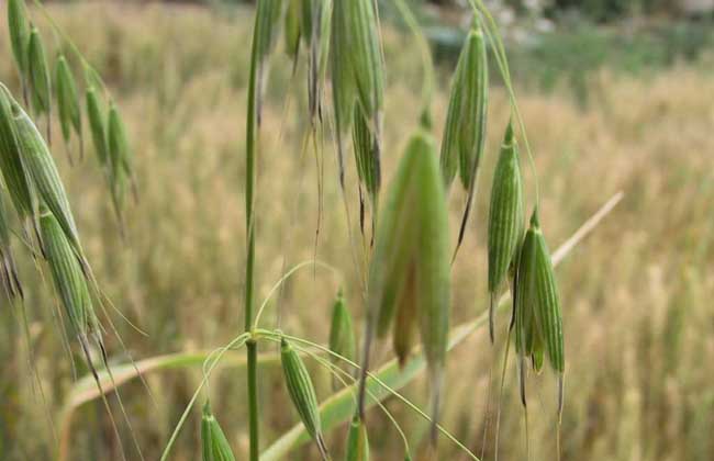
[[[55,160],[37,127],[18,103],[13,104],[13,115],[18,128],[22,162],[32,178],[40,199],[56,217],[77,256],[81,257],[77,225]]]

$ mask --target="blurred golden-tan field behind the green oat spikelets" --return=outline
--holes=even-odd
[[[122,368],[129,355],[150,369],[150,361],[142,360],[196,352],[146,371],[150,393],[140,380],[120,387],[132,429],[114,394],[110,395],[129,459],[138,459],[131,430],[147,460],[160,457],[201,382],[205,351],[243,331],[244,135],[253,13],[250,9],[211,12],[101,3],[49,8],[54,21],[104,77],[135,154],[141,200],[126,211],[122,239],[92,150],[70,167],[59,126],[55,127],[53,153],[97,279],[116,308],[146,333],[110,310],[123,345],[108,331],[109,362],[121,378],[122,372],[131,372],[131,367]],[[57,37],[42,14],[33,11],[33,18],[54,55]],[[0,80],[16,91],[5,24],[3,13]],[[412,37],[386,25],[384,47],[383,178],[388,184],[417,124],[421,74]],[[573,99],[565,83],[544,94],[527,85],[528,76],[514,76],[538,169],[540,217],[549,246],[557,248],[611,196],[624,193],[614,211],[557,268],[568,360],[562,460],[705,461],[714,452],[713,59],[710,52],[695,61],[637,77],[605,65],[584,78],[590,94],[585,105]],[[437,138],[446,115],[450,66],[437,67]],[[263,317],[266,325],[275,326],[280,312],[285,331],[324,344],[341,286],[362,327],[359,276],[349,240],[352,235],[355,245],[362,245],[356,178],[349,157],[348,193],[343,201],[332,138],[321,146],[320,161],[305,142],[304,63],[294,78],[291,67],[285,55],[275,55],[263,117],[256,299],[261,302],[268,295],[286,268],[315,256],[333,266],[336,271],[297,272],[267,304]],[[482,315],[488,307],[488,192],[509,119],[505,91],[498,78],[493,80],[476,217],[453,270],[454,325]],[[529,209],[533,177],[525,166],[523,170]],[[462,202],[464,194],[455,189],[453,234]],[[25,251],[21,245],[14,250],[18,256]],[[48,282],[37,276],[32,258],[18,259],[32,355],[19,311],[3,303],[0,458],[121,459],[101,400],[85,402],[93,384],[77,384],[88,370],[78,352],[70,356],[63,348],[59,321],[53,315],[57,301]],[[506,324],[504,313],[499,326]],[[503,342],[504,335],[500,339]],[[378,360],[391,357],[387,346],[380,346]],[[270,359],[276,351],[260,348],[268,357],[259,375],[264,447],[299,421],[279,363]],[[213,411],[236,459],[247,459],[248,449],[244,357],[230,353],[210,386]],[[488,328],[476,330],[449,353],[442,423],[477,456],[492,460],[500,402],[499,457],[525,459],[526,431],[513,360],[502,398],[493,389],[487,406],[490,370],[498,382],[502,357],[502,344],[495,349],[490,346]],[[311,371],[319,400],[328,397],[330,375],[317,368]],[[555,459],[554,390],[548,372],[529,385],[527,439],[533,460]],[[423,380],[403,393],[426,407]],[[420,459],[426,452],[428,425],[397,398],[387,398],[384,407],[403,428],[414,459]],[[199,426],[197,406],[171,459],[199,459]],[[372,459],[403,457],[399,432],[378,408],[369,413],[369,436]],[[336,459],[345,437],[345,425],[326,434]],[[286,459],[314,460],[317,451],[303,446]],[[442,438],[438,459],[469,458]]]

